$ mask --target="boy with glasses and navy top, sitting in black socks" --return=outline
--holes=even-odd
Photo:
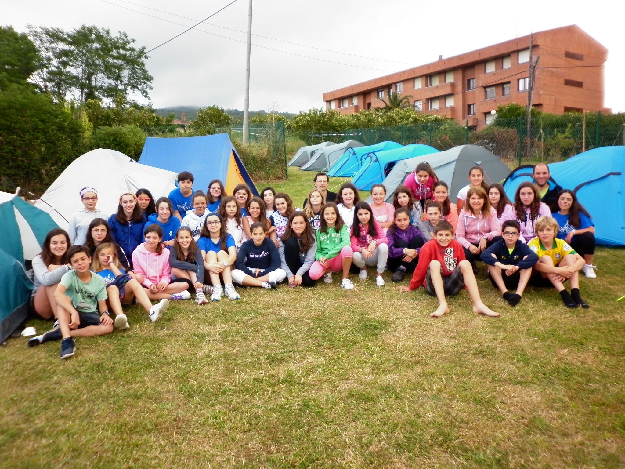
[[[519,241],[521,225],[518,221],[504,221],[501,234],[504,239],[486,248],[480,258],[488,265],[492,286],[499,288],[510,306],[516,306],[521,301],[538,256]],[[510,293],[508,290],[515,291]]]

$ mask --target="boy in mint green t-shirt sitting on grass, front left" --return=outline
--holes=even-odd
[[[61,340],[61,358],[74,355],[74,337],[91,337],[113,332],[113,320],[106,310],[104,278],[89,271],[91,256],[86,246],[68,250],[72,270],[61,277],[54,291],[59,325],[28,341],[29,346]],[[98,313],[99,310],[99,313]]]

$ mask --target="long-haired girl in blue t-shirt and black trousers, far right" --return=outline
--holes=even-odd
[[[552,207],[552,215],[556,219],[560,230],[556,238],[568,243],[586,264],[582,272],[587,278],[597,278],[592,265],[594,258],[594,223],[590,214],[577,201],[575,193],[569,189],[562,189],[557,194],[556,206]]]

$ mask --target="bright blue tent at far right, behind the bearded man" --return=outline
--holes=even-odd
[[[566,161],[548,164],[551,183],[571,189],[592,216],[601,245],[625,245],[625,146],[594,148]],[[532,166],[519,166],[506,178],[512,199],[524,181],[532,182]]]

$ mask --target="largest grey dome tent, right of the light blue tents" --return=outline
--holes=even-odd
[[[510,173],[510,169],[499,156],[477,145],[461,145],[439,153],[425,154],[414,158],[397,161],[391,172],[384,179],[386,186],[386,201],[392,203],[392,193],[404,183],[406,176],[417,167],[421,161],[427,161],[432,166],[439,181],[445,181],[449,186],[449,199],[455,203],[460,189],[469,184],[469,169],[479,166],[484,169],[484,182],[488,185],[501,183]],[[371,198],[367,198],[371,201]]]

